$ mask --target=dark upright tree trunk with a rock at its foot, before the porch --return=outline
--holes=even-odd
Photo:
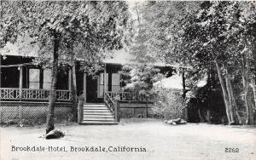
[[[54,52],[53,52],[53,64],[51,68],[51,85],[49,92],[49,105],[46,122],[46,134],[49,131],[55,129],[54,116],[55,116],[55,101],[56,101],[56,83],[57,83],[57,72],[58,72],[58,50],[59,50],[59,36],[54,32]]]

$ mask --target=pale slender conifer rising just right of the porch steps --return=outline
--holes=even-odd
[[[132,19],[130,24],[128,52],[133,55],[134,64],[123,66],[122,74],[123,77],[128,77],[124,81],[130,86],[125,89],[137,92],[148,99],[149,96],[154,95],[153,83],[159,81],[164,75],[154,66],[159,60],[150,42],[152,34],[148,22],[144,19],[143,3],[134,3],[131,9],[136,18]]]

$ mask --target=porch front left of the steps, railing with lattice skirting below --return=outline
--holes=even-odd
[[[55,117],[67,120],[72,112],[71,91],[56,91]],[[48,111],[49,89],[0,88],[0,123],[27,119],[45,123]]]

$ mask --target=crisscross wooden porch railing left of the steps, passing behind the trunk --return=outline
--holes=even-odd
[[[21,98],[20,98],[21,95]],[[56,90],[56,99],[59,101],[71,100],[71,90]],[[0,99],[3,100],[49,100],[47,89],[15,89],[0,88]]]

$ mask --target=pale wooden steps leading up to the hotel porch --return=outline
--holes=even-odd
[[[117,124],[112,111],[103,103],[84,104],[84,118],[82,124]]]

